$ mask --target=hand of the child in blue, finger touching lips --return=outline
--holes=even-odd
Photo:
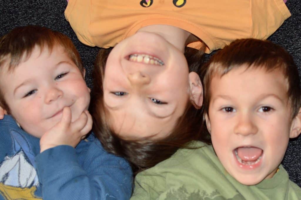
[[[41,137],[40,152],[59,145],[76,147],[91,129],[92,117],[87,110],[76,121],[71,122],[71,110],[65,107],[61,121]]]

